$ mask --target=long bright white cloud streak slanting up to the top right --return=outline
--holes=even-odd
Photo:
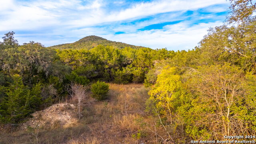
[[[70,24],[73,26],[92,26],[104,22],[129,20],[165,12],[194,10],[223,3],[227,2],[224,0],[161,0],[157,2],[142,2],[119,12],[108,13],[103,10],[98,11],[98,14],[92,12],[88,16],[71,21]]]

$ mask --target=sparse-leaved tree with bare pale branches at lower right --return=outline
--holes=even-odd
[[[242,106],[238,99],[246,98],[242,70],[224,64],[203,66],[190,74],[188,86],[196,98],[186,132],[194,139],[223,139],[224,135],[239,134],[241,125],[236,123],[238,114],[233,108]]]

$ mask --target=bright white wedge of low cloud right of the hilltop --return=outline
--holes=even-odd
[[[139,31],[132,34],[106,35],[107,39],[150,48],[167,48],[168,50],[188,50],[198,45],[207,34],[209,27],[221,25],[222,22],[201,23],[189,27],[187,22],[166,26],[164,30]]]

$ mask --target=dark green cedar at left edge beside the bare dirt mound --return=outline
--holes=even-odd
[[[1,121],[16,124],[38,110],[42,104],[41,88],[41,84],[36,84],[29,90],[21,77],[15,75],[14,83],[6,88],[6,97],[0,104]]]

